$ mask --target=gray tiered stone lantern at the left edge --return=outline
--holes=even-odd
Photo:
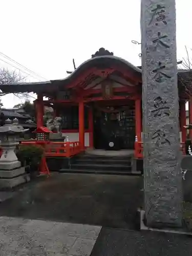
[[[25,167],[21,167],[15,155],[15,148],[18,145],[16,139],[19,134],[27,130],[21,126],[13,125],[10,119],[5,120],[5,124],[0,127],[2,148],[0,159],[0,189],[12,188],[30,180],[29,175],[25,174]]]

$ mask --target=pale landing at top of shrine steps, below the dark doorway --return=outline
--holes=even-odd
[[[104,157],[132,157],[134,155],[134,150],[86,150],[86,154],[95,155],[95,156],[104,156]]]

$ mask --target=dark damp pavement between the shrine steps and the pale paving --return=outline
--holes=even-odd
[[[134,229],[142,177],[53,174],[1,203],[0,216]]]

